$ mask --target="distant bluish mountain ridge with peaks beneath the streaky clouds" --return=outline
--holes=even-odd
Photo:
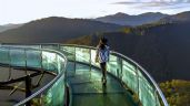
[[[139,14],[139,15],[129,15],[129,14],[119,12],[112,15],[97,18],[94,20],[107,22],[107,23],[136,26],[136,25],[157,22],[160,19],[166,18],[166,17],[168,17],[168,14],[162,14],[160,12],[157,12],[157,13],[148,12],[148,13]]]

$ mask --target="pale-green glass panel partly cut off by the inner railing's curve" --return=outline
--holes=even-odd
[[[76,47],[74,46],[60,46],[60,50],[70,61],[76,61]]]

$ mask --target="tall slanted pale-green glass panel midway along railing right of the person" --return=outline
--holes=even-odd
[[[122,81],[134,93],[138,93],[138,75],[136,68],[127,61],[122,60]]]

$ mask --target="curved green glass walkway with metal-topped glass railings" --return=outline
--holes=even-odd
[[[57,75],[16,106],[168,106],[153,78],[139,64],[113,51],[103,86],[94,55],[94,47],[82,45],[1,44],[0,47],[3,65]],[[0,82],[0,86],[11,82]]]

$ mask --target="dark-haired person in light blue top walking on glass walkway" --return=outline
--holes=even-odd
[[[100,63],[100,67],[102,71],[101,82],[107,84],[107,62],[109,62],[110,47],[108,46],[108,40],[106,38],[101,38],[99,44],[97,46],[97,55],[96,62]]]

